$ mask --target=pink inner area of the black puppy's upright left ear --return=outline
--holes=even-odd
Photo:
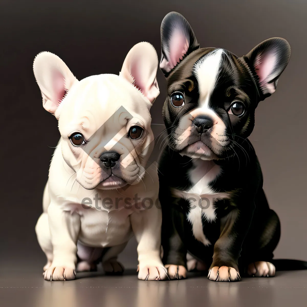
[[[189,49],[189,40],[185,35],[179,30],[175,29],[170,38],[169,46],[169,61],[174,68],[183,56],[187,53]]]

